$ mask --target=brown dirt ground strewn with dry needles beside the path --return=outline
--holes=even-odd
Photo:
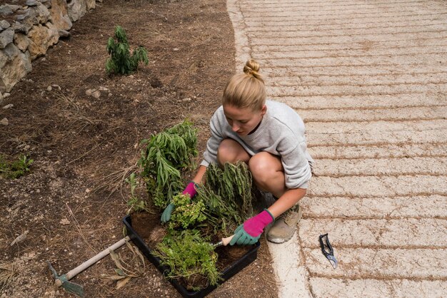
[[[209,118],[233,74],[233,29],[224,0],[104,0],[71,29],[2,106],[0,153],[34,159],[31,173],[0,178],[0,263],[14,268],[0,297],[69,297],[54,287],[46,260],[59,274],[123,237],[129,187],[139,141],[190,118],[199,128],[199,150]],[[149,65],[132,76],[107,76],[106,42],[114,26],[132,46],[148,49]],[[87,96],[89,89],[101,96]],[[199,161],[199,159],[198,159]],[[26,233],[27,231],[27,233]],[[26,239],[10,245],[21,234]],[[129,249],[117,252],[129,257]],[[131,257],[129,268],[136,271]],[[134,264],[134,265],[133,265]],[[73,279],[87,297],[179,297],[154,265],[116,289],[110,257]],[[276,297],[265,240],[258,259],[210,297]]]

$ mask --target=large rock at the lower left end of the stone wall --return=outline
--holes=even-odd
[[[22,53],[14,43],[0,51],[0,92],[9,92],[32,69],[29,52]]]

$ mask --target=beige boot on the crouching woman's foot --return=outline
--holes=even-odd
[[[267,240],[273,243],[283,243],[290,240],[302,215],[303,210],[298,204],[279,215],[267,232]]]

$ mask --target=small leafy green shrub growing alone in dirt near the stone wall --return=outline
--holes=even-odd
[[[135,48],[132,53],[130,52],[126,31],[123,27],[115,27],[115,38],[117,42],[113,37],[109,37],[107,42],[107,52],[111,56],[106,61],[107,73],[128,75],[136,71],[140,62],[144,62],[146,65],[149,63],[146,48],[143,46]]]

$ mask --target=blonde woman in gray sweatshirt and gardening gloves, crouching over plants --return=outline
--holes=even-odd
[[[211,118],[204,160],[183,192],[196,195],[195,183],[201,182],[209,163],[243,160],[248,165],[256,186],[271,192],[276,201],[237,227],[231,245],[256,243],[273,221],[267,239],[275,243],[290,240],[301,218],[298,201],[306,195],[311,179],[313,159],[306,149],[303,120],[285,104],[266,101],[258,71],[258,63],[249,60],[243,73],[226,84],[222,106]],[[173,208],[172,204],[166,207],[163,222],[169,220]]]

